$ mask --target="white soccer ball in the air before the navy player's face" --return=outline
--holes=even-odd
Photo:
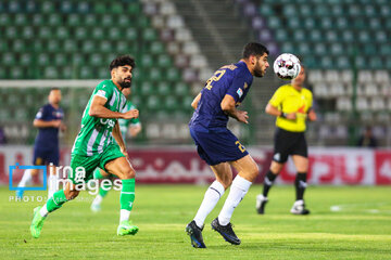
[[[273,68],[280,79],[291,80],[298,77],[301,66],[300,61],[295,55],[282,53],[276,58]]]

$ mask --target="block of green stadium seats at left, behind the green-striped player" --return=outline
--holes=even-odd
[[[180,129],[190,116],[189,100],[193,95],[190,86],[199,82],[200,68],[205,64],[202,56],[192,56],[199,54],[193,50],[197,46],[186,39],[180,41],[184,26],[171,6],[137,0],[1,1],[0,79],[104,79],[110,76],[108,67],[113,57],[130,53],[138,65],[133,101],[142,112],[146,129],[149,121],[154,121],[151,116],[156,114],[162,120],[177,118],[175,129]],[[156,23],[156,17],[166,20],[167,26],[156,29],[151,24]],[[173,37],[167,39],[167,34]],[[172,42],[181,50],[171,51],[167,44]],[[178,57],[182,58],[179,64]],[[63,89],[65,114],[75,110],[81,114],[90,94],[83,87]],[[0,91],[5,101],[1,121],[26,126],[28,136],[20,140],[23,143],[28,138],[30,143],[35,135],[30,122],[46,102],[48,90],[0,88]],[[72,100],[74,96],[76,101]],[[12,126],[5,128],[9,128],[7,133],[13,132]],[[174,132],[174,135],[179,134]],[[150,138],[146,131],[139,140]],[[8,140],[18,142],[13,138]],[[182,138],[178,140],[184,142]]]

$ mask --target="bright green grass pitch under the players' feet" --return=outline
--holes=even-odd
[[[118,237],[118,192],[109,193],[92,213],[87,192],[48,217],[40,238],[29,234],[33,209],[42,203],[13,202],[0,188],[1,259],[391,259],[390,186],[310,186],[310,216],[291,216],[293,186],[274,186],[266,214],[255,212],[260,185],[234,213],[242,244],[232,246],[211,230],[227,193],[203,231],[206,249],[194,249],[185,233],[206,186],[137,185],[131,219],[136,236]],[[43,192],[26,192],[30,196]],[[36,198],[36,197],[35,197]],[[330,208],[336,211],[331,211]]]

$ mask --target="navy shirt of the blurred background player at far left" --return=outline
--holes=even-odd
[[[54,108],[51,104],[42,106],[35,119],[43,121],[62,120],[64,117],[63,110],[59,107]],[[35,147],[38,150],[58,150],[59,148],[59,128],[48,127],[38,128],[38,134],[35,141]]]

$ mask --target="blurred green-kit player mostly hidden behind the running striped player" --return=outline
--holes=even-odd
[[[126,101],[124,108],[121,112],[126,113],[131,109],[137,109],[136,106],[129,100],[130,93],[131,93],[130,88],[124,89],[122,92],[127,98],[127,101]],[[122,133],[122,136],[123,136],[125,143],[126,143],[127,135],[135,138],[141,131],[141,122],[140,122],[139,118],[131,118],[129,120],[118,119],[118,123],[119,123],[119,130],[121,130],[121,133]],[[98,179],[98,180],[108,179],[108,181],[101,182],[101,185],[99,187],[99,193],[91,204],[91,210],[93,212],[98,212],[101,210],[101,203],[103,202],[103,198],[108,195],[109,191],[113,186],[114,178],[112,174],[109,174],[108,172],[100,169],[99,167],[93,171],[93,178]]]

